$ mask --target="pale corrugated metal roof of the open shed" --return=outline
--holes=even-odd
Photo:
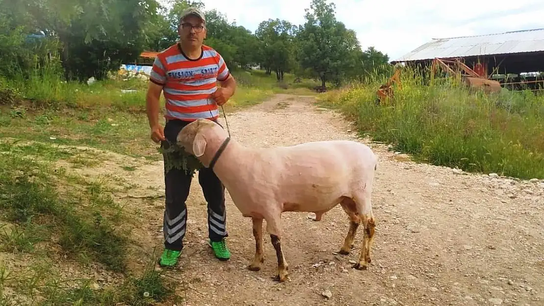
[[[544,28],[499,34],[433,39],[394,60],[470,57],[504,53],[544,51]]]

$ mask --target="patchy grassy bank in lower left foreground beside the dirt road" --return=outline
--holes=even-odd
[[[155,257],[139,277],[128,271],[129,222],[107,185],[54,164],[78,154],[44,143],[0,145],[0,305],[143,306],[179,299],[175,284],[154,270]],[[5,254],[25,264],[9,267]],[[82,271],[98,265],[120,273],[123,282],[100,288],[92,278],[57,273],[68,263]]]

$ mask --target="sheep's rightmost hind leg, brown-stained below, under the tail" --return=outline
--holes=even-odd
[[[375,223],[372,214],[372,203],[370,202],[369,189],[364,190],[361,196],[355,196],[354,201],[357,204],[357,211],[361,216],[363,223],[363,242],[361,245],[361,254],[358,262],[353,266],[357,270],[366,270],[370,263],[370,251],[374,242]]]

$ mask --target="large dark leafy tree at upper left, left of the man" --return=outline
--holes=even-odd
[[[9,2],[9,1],[8,1]],[[12,18],[25,28],[58,40],[66,79],[102,79],[137,59],[146,29],[157,14],[156,0],[18,0]]]

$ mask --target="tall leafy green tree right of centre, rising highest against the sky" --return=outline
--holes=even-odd
[[[338,84],[357,66],[361,47],[355,32],[336,20],[334,3],[312,0],[305,11],[306,23],[299,31],[301,67],[310,68],[323,88],[327,81]]]

